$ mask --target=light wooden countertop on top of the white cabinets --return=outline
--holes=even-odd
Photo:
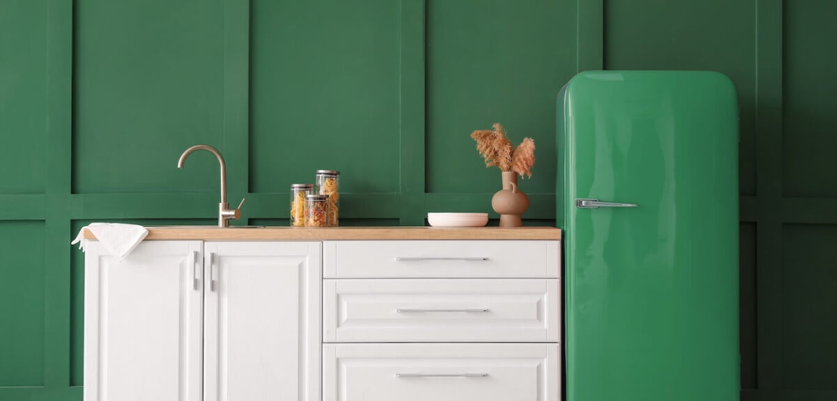
[[[85,239],[96,239],[85,230]],[[149,227],[146,240],[324,240],[324,239],[561,239],[552,227],[435,228],[435,227],[264,227],[218,229],[217,227]]]

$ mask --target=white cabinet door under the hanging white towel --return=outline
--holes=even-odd
[[[200,401],[200,241],[85,254],[85,401]]]

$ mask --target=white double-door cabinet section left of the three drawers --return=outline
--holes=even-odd
[[[85,401],[320,400],[320,242],[86,249]]]

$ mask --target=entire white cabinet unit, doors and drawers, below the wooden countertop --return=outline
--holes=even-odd
[[[86,249],[85,401],[560,399],[557,240]]]

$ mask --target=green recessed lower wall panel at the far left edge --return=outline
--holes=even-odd
[[[44,384],[44,222],[0,221],[0,388]]]

